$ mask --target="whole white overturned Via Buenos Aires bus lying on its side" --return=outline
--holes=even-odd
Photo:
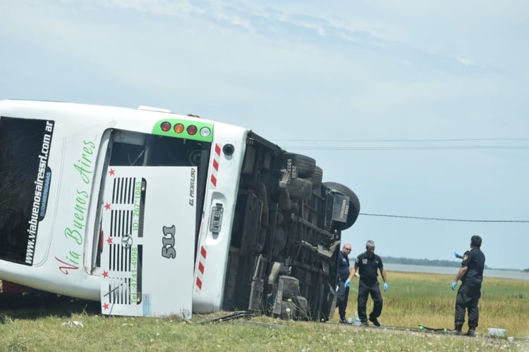
[[[0,187],[0,279],[113,315],[329,318],[360,210],[243,127],[49,101],[0,101]]]

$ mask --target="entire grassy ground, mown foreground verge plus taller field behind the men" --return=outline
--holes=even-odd
[[[453,326],[456,294],[451,279],[388,272],[389,291],[383,293],[379,328],[339,325],[336,316],[325,323],[267,316],[207,322],[223,314],[216,313],[193,315],[186,322],[177,317],[106,317],[99,314],[99,303],[69,298],[18,302],[0,310],[0,351],[529,351],[529,282],[525,281],[485,280],[478,337],[418,331],[418,325]],[[355,284],[348,306],[351,317],[356,309]],[[63,325],[68,321],[82,322],[83,327]],[[505,329],[506,337],[514,340],[488,337],[488,327]]]

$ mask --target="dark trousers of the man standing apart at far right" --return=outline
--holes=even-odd
[[[463,282],[459,287],[456,296],[456,315],[454,325],[456,330],[461,330],[465,322],[465,313],[468,310],[468,328],[475,329],[478,327],[480,320],[480,308],[478,302],[481,297],[480,284],[466,284]]]

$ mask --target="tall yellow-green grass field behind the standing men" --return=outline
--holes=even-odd
[[[418,325],[454,328],[456,292],[451,290],[451,275],[389,272],[389,290],[383,292],[382,325],[417,328]],[[461,284],[461,283],[460,283]],[[351,285],[348,316],[354,317],[358,288]],[[371,300],[367,313],[372,309]],[[480,326],[477,332],[487,334],[489,327],[506,329],[513,337],[529,336],[529,282],[486,278],[480,298]],[[337,314],[337,313],[336,313]],[[337,315],[335,316],[337,320]]]

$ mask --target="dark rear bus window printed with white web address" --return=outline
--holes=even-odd
[[[0,117],[0,259],[32,265],[46,215],[54,121]]]

